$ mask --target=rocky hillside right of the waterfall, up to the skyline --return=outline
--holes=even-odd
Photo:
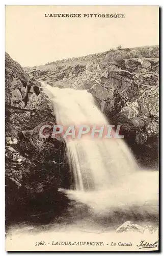
[[[88,90],[108,121],[121,125],[139,163],[157,168],[158,51],[157,46],[111,50],[26,70],[52,86]]]

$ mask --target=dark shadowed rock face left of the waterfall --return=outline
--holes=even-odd
[[[22,210],[28,212],[31,201],[35,212],[42,201],[55,203],[61,198],[57,189],[68,186],[69,172],[65,144],[50,136],[39,136],[42,125],[51,126],[47,131],[50,134],[56,123],[53,106],[40,93],[41,83],[29,77],[8,54],[5,65],[6,218],[15,221]]]

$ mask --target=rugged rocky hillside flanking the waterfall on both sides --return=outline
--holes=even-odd
[[[6,53],[7,220],[29,214],[36,221],[40,214],[43,222],[47,212],[49,218],[59,214],[58,201],[63,202],[61,211],[69,203],[57,192],[58,187],[70,185],[65,144],[39,137],[43,124],[56,123],[39,80],[88,90],[109,122],[121,124],[121,133],[141,166],[157,168],[158,70],[158,47],[112,49],[24,70]]]

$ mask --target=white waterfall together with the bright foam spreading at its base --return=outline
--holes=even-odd
[[[42,86],[59,124],[108,124],[86,90]],[[70,199],[103,216],[116,210],[133,215],[136,209],[143,216],[158,216],[158,172],[140,169],[123,139],[87,135],[66,140],[66,144],[73,177],[72,189],[64,191]]]

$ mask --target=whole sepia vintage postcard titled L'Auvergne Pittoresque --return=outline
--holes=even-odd
[[[6,250],[158,251],[159,6],[6,6]]]

